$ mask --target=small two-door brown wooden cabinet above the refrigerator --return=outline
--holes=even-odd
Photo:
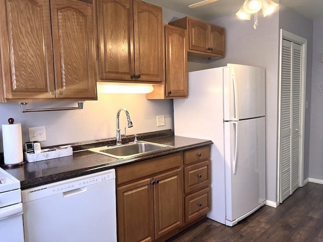
[[[169,24],[188,30],[189,57],[212,59],[225,56],[224,28],[190,17]]]

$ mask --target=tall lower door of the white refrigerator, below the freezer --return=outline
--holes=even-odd
[[[264,117],[225,122],[226,220],[265,201]]]

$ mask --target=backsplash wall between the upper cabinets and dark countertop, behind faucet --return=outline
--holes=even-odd
[[[37,103],[48,106],[50,103]],[[58,105],[61,103],[55,103]],[[66,103],[69,106],[74,103]],[[28,105],[34,105],[33,103]],[[29,108],[31,108],[30,106]],[[8,124],[13,117],[22,124],[23,142],[29,141],[28,127],[46,127],[47,140],[41,146],[52,146],[80,141],[89,141],[116,136],[116,115],[120,108],[129,110],[132,128],[127,135],[172,129],[173,101],[146,100],[145,94],[102,94],[97,101],[85,101],[84,109],[70,111],[45,111],[22,113],[18,103],[0,103],[0,124]],[[156,115],[165,115],[165,126],[156,126]],[[120,128],[127,127],[126,115],[120,114]],[[0,130],[2,137],[2,129]],[[3,151],[2,138],[0,151]]]

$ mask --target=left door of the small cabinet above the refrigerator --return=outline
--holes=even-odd
[[[207,51],[209,48],[209,24],[189,19],[189,49]]]

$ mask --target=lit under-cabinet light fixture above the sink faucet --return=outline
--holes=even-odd
[[[149,93],[152,84],[97,82],[98,93]]]

